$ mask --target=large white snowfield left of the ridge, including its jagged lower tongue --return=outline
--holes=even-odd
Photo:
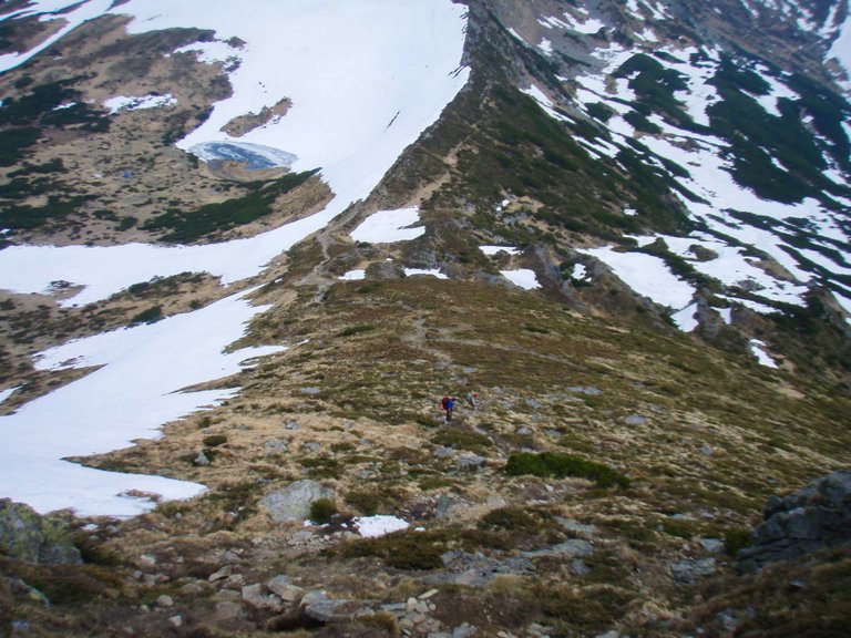
[[[376,187],[402,151],[439,116],[468,80],[460,66],[466,7],[450,0],[37,0],[22,14],[55,19],[72,8],[68,25],[32,51],[0,56],[8,70],[38,54],[85,20],[105,13],[132,18],[129,30],[212,29],[216,41],[193,47],[206,60],[230,64],[233,95],[214,105],[207,122],[177,145],[184,150],[233,143],[219,128],[287,97],[291,107],[239,138],[291,158],[294,171],[320,168],[335,198],[316,215],[226,244],[195,247],[126,245],[18,246],[0,251],[0,287],[43,292],[53,281],[82,286],[65,305],[104,299],[153,277],[207,271],[229,285],[325,227]],[[270,29],[274,25],[274,29]],[[238,49],[228,41],[239,39]],[[116,106],[126,99],[115,96]],[[173,99],[180,102],[181,95]],[[147,103],[145,103],[147,105]],[[152,104],[153,105],[153,104]],[[164,104],[160,104],[164,105]],[[113,106],[114,107],[114,106]],[[115,116],[120,116],[120,113]],[[205,146],[206,145],[206,146]],[[414,229],[421,233],[423,229]],[[410,230],[409,230],[410,233]],[[183,498],[202,485],[162,477],[99,472],[61,459],[106,452],[154,436],[166,422],[229,392],[181,393],[232,374],[246,357],[280,348],[223,353],[262,308],[236,295],[153,326],[120,330],[44,353],[43,366],[74,359],[96,371],[0,418],[0,496],[40,512],[73,507],[83,515],[129,516],[151,510],[130,491]],[[215,327],[215,328],[213,328]]]

